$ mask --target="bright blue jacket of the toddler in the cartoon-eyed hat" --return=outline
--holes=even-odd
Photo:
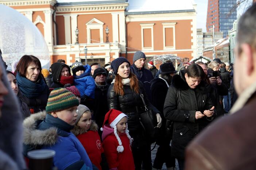
[[[90,76],[91,67],[87,64],[84,65],[85,72],[81,76],[74,76],[74,85],[79,90],[81,98],[88,96],[94,99],[95,83],[92,76]]]

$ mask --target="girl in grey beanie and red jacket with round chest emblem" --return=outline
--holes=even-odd
[[[91,112],[85,105],[77,107],[77,114],[75,127],[71,131],[84,146],[93,165],[101,170],[101,154],[104,150],[98,134],[98,125],[92,121]]]

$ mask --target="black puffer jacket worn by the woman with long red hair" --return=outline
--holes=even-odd
[[[139,81],[140,92],[144,95],[148,110],[154,110],[155,114],[160,113],[147,98],[142,82]],[[114,91],[114,84],[108,89],[108,107],[109,109],[120,110],[128,116],[128,129],[131,137],[134,138],[142,128],[139,121],[139,114],[145,112],[140,94],[131,90],[129,85],[124,85],[124,96],[117,95]],[[136,107],[138,110],[136,110]],[[136,140],[136,139],[134,139]]]

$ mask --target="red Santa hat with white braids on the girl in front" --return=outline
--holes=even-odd
[[[126,114],[120,112],[119,110],[111,109],[111,110],[109,110],[108,113],[106,113],[102,128],[100,128],[100,130],[103,131],[103,128],[106,124],[106,121],[108,121],[109,126],[114,129],[114,134],[115,134],[116,139],[119,143],[119,146],[117,146],[117,149],[116,149],[118,153],[123,152],[124,147],[122,145],[122,142],[121,142],[121,139],[120,139],[119,135],[117,134],[116,125],[123,117],[128,118]],[[128,130],[127,125],[126,125],[126,129],[125,129],[125,134],[129,138],[130,145],[132,145],[133,138],[131,138],[131,136],[129,135],[129,130]]]

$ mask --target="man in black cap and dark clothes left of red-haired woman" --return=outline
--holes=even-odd
[[[108,112],[107,93],[109,86],[106,84],[107,73],[103,68],[94,70],[93,78],[95,81],[93,120],[99,127],[102,127],[105,114]],[[102,132],[99,130],[99,133]],[[101,136],[101,135],[100,135]]]

